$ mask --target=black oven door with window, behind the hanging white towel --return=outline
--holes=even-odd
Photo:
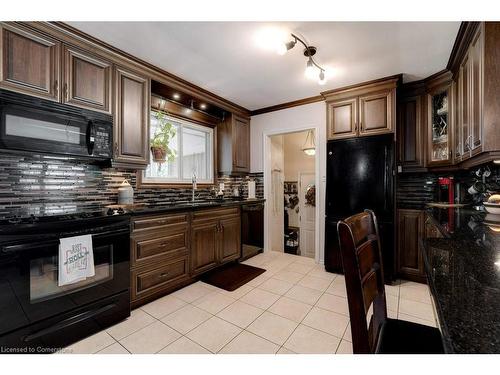
[[[127,291],[128,229],[93,234],[92,247],[95,276],[59,287],[59,240],[3,246],[0,335]]]

